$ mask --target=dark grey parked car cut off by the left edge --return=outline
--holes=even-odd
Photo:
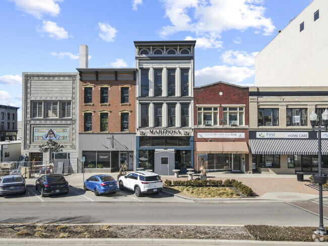
[[[21,174],[5,175],[0,181],[0,195],[25,194],[26,182]]]

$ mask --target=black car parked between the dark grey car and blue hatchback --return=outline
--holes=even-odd
[[[62,174],[46,174],[36,179],[35,189],[45,197],[53,194],[68,194],[69,185]]]

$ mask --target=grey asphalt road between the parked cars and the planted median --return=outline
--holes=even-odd
[[[318,226],[318,216],[279,203],[9,202],[0,224],[110,223]],[[328,220],[324,220],[328,224]]]

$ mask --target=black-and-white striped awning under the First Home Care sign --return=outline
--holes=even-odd
[[[251,139],[250,147],[252,154],[318,154],[318,141],[313,139]],[[328,140],[321,140],[321,154],[328,155]]]

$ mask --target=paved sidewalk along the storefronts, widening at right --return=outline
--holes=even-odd
[[[84,173],[84,180],[97,173]],[[99,173],[98,173],[99,174]],[[115,179],[119,175],[119,172],[108,173]],[[197,178],[199,174],[194,174],[194,178]],[[238,181],[242,181],[244,184],[252,188],[257,195],[251,199],[267,199],[267,200],[281,200],[281,201],[296,201],[296,200],[308,200],[317,198],[319,192],[315,187],[307,186],[310,184],[308,181],[309,175],[304,175],[304,181],[297,181],[295,174],[245,174],[245,173],[223,173],[223,172],[210,172],[207,173],[208,179],[225,180],[227,178],[234,178]],[[73,187],[83,187],[83,173],[74,173],[65,176],[69,184]],[[179,178],[174,176],[162,175],[161,179],[165,181],[169,180],[187,180],[187,174],[180,175]],[[28,184],[34,184],[35,178],[26,179]],[[323,192],[323,196],[328,196],[328,191]]]

